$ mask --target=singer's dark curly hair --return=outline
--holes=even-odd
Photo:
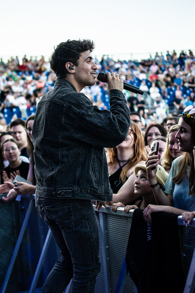
[[[57,77],[65,78],[68,71],[65,67],[67,62],[78,65],[78,59],[81,53],[88,51],[91,53],[95,48],[95,44],[91,40],[68,40],[60,43],[54,52],[51,54],[49,60],[51,69],[55,72]]]

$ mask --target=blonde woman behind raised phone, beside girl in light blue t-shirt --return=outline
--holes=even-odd
[[[161,164],[168,173],[170,172],[173,160],[182,155],[178,139],[175,137],[178,130],[178,125],[170,127],[167,134],[166,148],[161,156]]]

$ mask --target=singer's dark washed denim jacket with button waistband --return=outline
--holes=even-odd
[[[121,91],[109,98],[110,111],[99,110],[61,78],[43,96],[32,130],[36,195],[112,200],[104,147],[127,137],[130,110]]]

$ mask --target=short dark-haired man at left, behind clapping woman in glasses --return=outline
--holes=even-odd
[[[28,158],[27,155],[27,136],[25,131],[25,121],[18,118],[10,124],[13,137],[18,142],[21,150],[21,155]]]

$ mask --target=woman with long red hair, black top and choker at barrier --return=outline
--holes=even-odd
[[[127,138],[117,147],[108,149],[109,181],[113,190],[113,202],[124,205],[133,204],[137,200],[134,194],[134,168],[146,161],[144,139],[141,129],[131,122]]]

